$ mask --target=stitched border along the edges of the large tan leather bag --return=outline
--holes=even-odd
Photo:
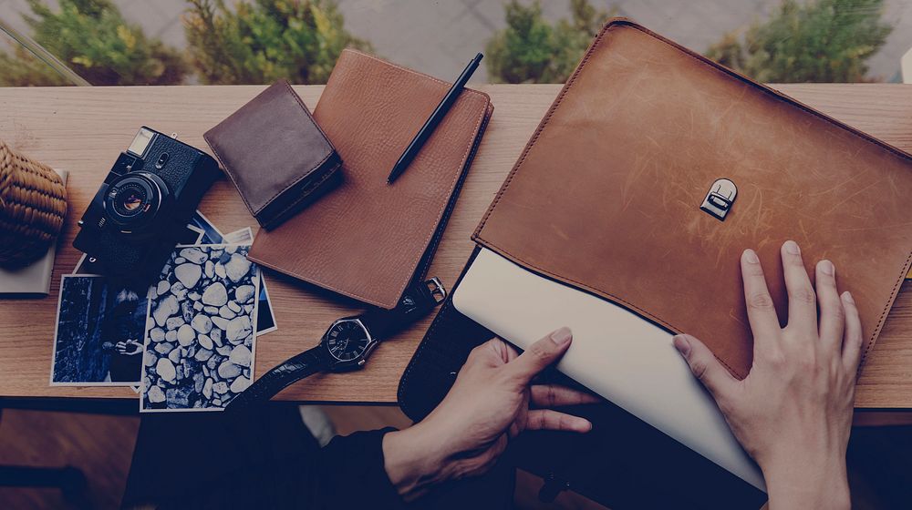
[[[516,257],[516,256],[512,255],[511,253],[507,252],[506,250],[503,250],[503,249],[501,249],[501,248],[495,246],[491,241],[484,240],[484,239],[482,238],[482,230],[483,230],[483,228],[484,228],[484,225],[487,223],[488,218],[491,216],[493,210],[497,207],[497,204],[500,203],[501,198],[503,198],[503,194],[506,192],[506,189],[510,186],[510,183],[511,183],[511,181],[513,180],[513,177],[515,176],[516,172],[519,170],[519,168],[521,168],[521,167],[523,166],[523,163],[525,162],[525,158],[528,156],[529,152],[532,151],[532,148],[534,147],[535,143],[538,141],[538,138],[541,136],[542,131],[544,131],[545,126],[547,126],[548,121],[551,120],[551,117],[554,115],[554,112],[557,110],[557,107],[559,107],[559,106],[561,105],[561,103],[564,101],[564,97],[565,97],[566,94],[570,91],[570,88],[574,86],[574,84],[575,84],[575,82],[576,82],[576,77],[577,77],[577,76],[579,75],[579,73],[583,70],[583,67],[586,66],[586,62],[588,62],[589,58],[595,53],[596,48],[598,47],[598,45],[601,44],[603,37],[608,33],[610,27],[613,26],[613,25],[615,25],[615,24],[617,24],[618,26],[629,26],[630,28],[634,28],[634,29],[636,29],[636,30],[638,30],[638,31],[640,31],[640,32],[642,32],[642,33],[648,35],[648,36],[653,36],[653,37],[657,38],[658,41],[664,43],[664,44],[667,45],[667,46],[672,46],[672,47],[674,47],[675,49],[678,49],[679,51],[681,51],[682,53],[684,53],[684,55],[689,56],[690,58],[696,60],[697,62],[700,62],[700,64],[702,64],[702,65],[704,65],[704,66],[709,66],[710,69],[715,70],[716,72],[720,73],[720,74],[723,75],[723,76],[727,76],[727,77],[730,77],[730,78],[731,78],[731,77],[734,77],[734,78],[736,78],[736,79],[739,79],[740,81],[746,82],[748,86],[752,86],[752,87],[757,87],[757,86],[759,86],[759,88],[760,88],[760,90],[761,90],[762,92],[765,92],[765,93],[767,93],[767,94],[770,94],[770,95],[772,95],[773,97],[775,97],[776,99],[779,99],[779,100],[781,100],[781,101],[783,101],[783,102],[785,102],[785,103],[787,103],[787,104],[793,105],[794,107],[799,107],[799,108],[801,108],[804,112],[806,112],[806,113],[808,113],[808,114],[810,114],[810,115],[813,115],[814,117],[821,118],[822,120],[824,120],[824,121],[826,121],[826,122],[828,122],[828,123],[834,125],[834,127],[836,127],[836,128],[842,128],[842,129],[848,131],[849,133],[852,133],[852,134],[854,134],[855,136],[857,136],[857,137],[859,137],[859,138],[862,138],[863,140],[865,140],[865,142],[867,142],[867,143],[869,143],[869,144],[871,144],[871,145],[874,145],[874,146],[876,146],[877,148],[881,148],[881,149],[883,149],[883,150],[886,150],[886,151],[888,151],[888,152],[894,154],[894,156],[898,156],[898,157],[904,158],[904,159],[910,159],[910,158],[912,158],[912,156],[910,156],[907,152],[902,151],[902,150],[900,150],[900,149],[898,149],[898,148],[894,148],[894,147],[892,147],[892,146],[890,146],[890,145],[887,145],[887,144],[885,144],[884,142],[881,142],[880,140],[877,140],[876,138],[872,138],[870,135],[867,135],[866,133],[864,133],[864,132],[862,132],[862,131],[859,131],[859,130],[857,130],[857,129],[855,129],[855,128],[852,128],[851,126],[848,126],[848,125],[846,125],[845,123],[840,122],[840,121],[834,119],[833,117],[829,117],[829,116],[827,116],[827,115],[824,115],[823,113],[816,111],[816,110],[815,110],[814,108],[812,108],[812,107],[807,107],[807,106],[803,105],[802,103],[800,103],[800,102],[798,102],[798,101],[792,99],[791,97],[786,97],[784,94],[782,94],[781,92],[779,92],[779,91],[777,91],[777,90],[775,90],[775,89],[773,89],[773,88],[771,88],[771,87],[766,87],[766,86],[764,86],[764,85],[762,85],[762,84],[757,84],[757,83],[751,81],[749,78],[746,78],[745,76],[741,76],[741,75],[738,74],[738,73],[734,73],[733,71],[731,72],[731,73],[733,73],[733,74],[730,74],[729,71],[727,71],[727,70],[725,70],[725,69],[722,69],[722,68],[716,66],[715,64],[709,62],[709,61],[704,60],[704,59],[703,59],[702,57],[700,57],[700,56],[696,56],[696,55],[692,54],[687,48],[685,48],[685,47],[683,47],[683,46],[679,46],[679,45],[677,45],[677,44],[675,44],[675,43],[672,43],[671,41],[669,41],[669,40],[666,39],[665,37],[659,36],[658,34],[655,34],[655,33],[651,32],[651,31],[649,31],[649,30],[646,29],[645,27],[637,26],[636,24],[633,24],[633,23],[631,23],[631,22],[629,22],[629,21],[627,21],[627,20],[623,20],[623,19],[622,19],[622,20],[616,20],[616,21],[613,21],[613,22],[609,22],[609,23],[605,26],[605,28],[598,34],[598,36],[596,37],[596,41],[593,42],[592,46],[588,49],[588,51],[586,51],[586,56],[583,57],[583,60],[580,62],[579,66],[576,67],[576,70],[574,71],[573,76],[570,76],[570,79],[567,81],[565,87],[561,90],[561,92],[560,92],[560,94],[558,95],[558,97],[557,97],[556,99],[554,99],[554,104],[548,109],[548,113],[547,113],[547,114],[545,115],[545,117],[542,119],[542,122],[539,124],[539,127],[535,129],[535,133],[534,133],[534,135],[533,135],[533,138],[528,142],[528,144],[526,145],[526,148],[523,149],[523,155],[520,157],[519,161],[516,162],[516,165],[515,165],[515,166],[513,167],[513,169],[510,171],[510,175],[507,176],[507,179],[503,182],[503,186],[502,186],[501,189],[497,192],[497,196],[494,198],[494,201],[492,202],[491,206],[490,206],[490,207],[488,208],[488,210],[484,213],[484,217],[482,218],[482,222],[479,223],[478,227],[475,229],[474,233],[472,234],[472,240],[475,240],[475,241],[477,241],[477,242],[480,242],[480,243],[482,243],[482,245],[488,246],[489,248],[492,248],[493,250],[496,250],[496,251],[502,253],[503,255],[507,256],[508,258],[511,258],[511,259],[513,259],[513,260],[517,260],[517,261],[521,262],[523,265],[528,265],[528,266],[530,266],[530,267],[535,268],[535,270],[539,270],[539,271],[541,271],[541,272],[543,272],[543,273],[545,273],[545,274],[548,274],[549,276],[552,276],[552,277],[556,278],[557,280],[571,281],[571,282],[573,282],[575,285],[578,285],[578,286],[580,286],[580,287],[584,287],[584,288],[586,288],[586,289],[588,289],[588,290],[590,290],[590,291],[594,291],[594,292],[596,292],[596,293],[598,293],[598,294],[606,295],[606,296],[610,297],[610,299],[612,299],[612,300],[616,300],[616,301],[623,302],[624,304],[630,306],[631,308],[635,309],[636,311],[638,311],[638,312],[640,312],[640,313],[642,313],[642,314],[648,316],[650,319],[652,319],[652,320],[654,320],[654,321],[658,321],[659,323],[668,326],[668,328],[670,328],[670,329],[672,329],[672,330],[681,331],[679,328],[673,326],[673,325],[670,324],[668,321],[664,321],[664,320],[660,319],[658,316],[653,315],[652,313],[649,313],[648,311],[645,311],[645,310],[643,310],[643,309],[637,307],[637,305],[635,305],[635,304],[633,304],[633,303],[630,303],[630,302],[628,302],[628,301],[622,300],[621,298],[618,298],[618,297],[615,296],[614,294],[611,294],[611,293],[606,292],[606,291],[598,290],[598,289],[596,289],[595,287],[587,286],[587,285],[584,284],[584,283],[581,283],[581,282],[578,282],[578,281],[575,281],[575,280],[571,280],[571,279],[569,279],[569,278],[566,278],[566,277],[563,277],[563,276],[559,276],[559,275],[557,275],[556,273],[552,273],[552,272],[550,272],[550,271],[547,271],[547,270],[544,270],[544,269],[542,269],[542,268],[536,267],[536,266],[534,266],[534,264],[531,264],[531,263],[529,263],[529,262],[526,262],[526,261],[520,259],[519,257]],[[910,259],[912,259],[912,254],[910,254],[910,255],[909,255],[909,258],[906,260],[906,263],[905,263],[904,266],[903,266],[904,268],[907,268]],[[902,271],[902,272],[900,272],[900,274],[899,274],[899,279],[896,280],[896,284],[893,286],[893,290],[890,291],[890,295],[891,295],[891,297],[892,297],[893,299],[887,301],[886,307],[884,308],[884,311],[881,313],[880,320],[877,321],[876,328],[875,328],[874,332],[871,334],[871,337],[868,339],[867,345],[866,345],[866,347],[865,347],[865,352],[863,353],[862,358],[861,358],[861,361],[859,362],[859,367],[862,365],[862,363],[865,362],[865,358],[867,357],[868,352],[871,350],[872,347],[874,347],[874,344],[875,344],[875,341],[876,341],[876,337],[877,337],[877,335],[878,335],[878,333],[879,333],[881,327],[883,326],[883,322],[884,322],[884,320],[886,319],[887,313],[890,311],[890,304],[892,303],[892,301],[894,301],[894,300],[896,299],[896,292],[897,292],[897,289],[898,289],[898,287],[902,284],[903,280],[905,280],[905,278],[906,278],[906,273],[907,273],[907,271],[905,271],[905,270]],[[745,374],[745,375],[741,375],[741,372],[732,370],[732,369],[731,369],[731,366],[730,366],[728,363],[726,363],[725,361],[721,360],[718,356],[717,356],[717,359],[719,359],[719,361],[720,361],[723,365],[725,365],[725,366],[729,369],[730,372],[735,373],[735,374],[738,374],[738,375],[740,375],[741,377],[744,377],[744,376],[746,375],[746,374]]]

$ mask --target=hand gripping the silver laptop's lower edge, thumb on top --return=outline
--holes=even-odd
[[[588,432],[587,420],[551,409],[598,399],[564,386],[532,384],[572,342],[561,328],[517,355],[494,339],[472,350],[443,402],[420,423],[383,438],[389,480],[413,499],[431,485],[482,474],[523,430]]]

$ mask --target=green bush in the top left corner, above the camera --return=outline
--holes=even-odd
[[[127,23],[109,0],[59,0],[57,12],[28,0],[24,15],[38,44],[92,85],[181,83],[188,68],[180,54],[140,26]],[[25,49],[0,53],[0,86],[67,85],[56,71]]]

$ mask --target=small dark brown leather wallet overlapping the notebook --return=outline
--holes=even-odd
[[[203,138],[266,230],[342,178],[336,149],[285,80],[267,87]]]

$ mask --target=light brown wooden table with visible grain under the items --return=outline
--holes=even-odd
[[[430,274],[452,284],[472,250],[470,233],[490,204],[560,86],[479,87],[495,106],[491,124],[453,212]],[[912,151],[912,87],[789,85],[783,92],[877,138]],[[0,301],[0,396],[137,398],[129,388],[50,387],[52,341],[60,275],[79,253],[76,221],[118,153],[141,125],[177,132],[206,148],[202,133],[262,90],[244,87],[0,88],[0,138],[26,154],[70,171],[67,225],[57,247],[51,293],[40,300]],[[313,107],[323,87],[295,87]],[[251,133],[251,136],[256,136]],[[910,198],[912,199],[912,198]],[[910,202],[912,203],[912,202]],[[231,183],[217,182],[202,212],[225,231],[256,230]],[[912,207],[909,209],[912,215]],[[257,340],[256,375],[313,346],[328,324],[354,310],[294,282],[270,278],[278,331]],[[359,372],[322,374],[287,388],[280,398],[337,403],[395,403],[399,377],[430,324],[383,342]],[[903,285],[858,383],[861,408],[912,408],[912,284]]]

